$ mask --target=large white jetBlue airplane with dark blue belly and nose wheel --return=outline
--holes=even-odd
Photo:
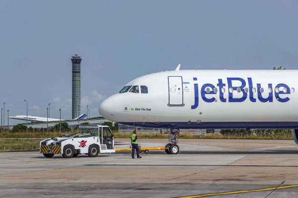
[[[129,82],[99,112],[121,124],[171,129],[292,129],[298,144],[298,70],[179,70]],[[176,133],[175,133],[176,132]],[[175,135],[176,134],[176,135]]]

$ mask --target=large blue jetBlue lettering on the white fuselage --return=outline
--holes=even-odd
[[[197,78],[194,77],[193,81],[194,81],[195,102],[194,102],[194,105],[191,106],[191,109],[196,109],[199,106],[199,86],[198,86]],[[279,102],[287,102],[290,100],[289,97],[282,97],[282,95],[291,94],[290,87],[284,83],[280,83],[276,85],[275,89],[273,89],[272,84],[268,84],[268,90],[271,90],[271,91],[268,92],[268,97],[264,98],[262,96],[264,89],[261,87],[261,84],[259,83],[257,84],[257,89],[253,88],[252,78],[247,78],[248,88],[246,86],[246,81],[243,78],[226,78],[226,81],[227,81],[228,102],[243,102],[247,99],[247,97],[249,97],[249,100],[251,102],[256,102],[257,99],[261,102],[273,102],[273,92],[274,92],[275,98]],[[227,99],[224,98],[225,86],[226,84],[223,83],[223,79],[218,79],[217,87],[218,87],[221,102],[227,101]],[[284,88],[285,91],[280,92],[279,88]],[[213,84],[206,83],[202,85],[200,94],[203,101],[205,102],[216,101],[217,99],[215,98],[214,95],[216,95],[217,92],[215,90],[216,90],[216,86]],[[233,95],[233,93],[235,93],[233,91],[236,91],[236,93],[238,93],[237,97]],[[257,92],[256,97],[254,97],[254,92]],[[241,97],[239,98],[239,96]]]

